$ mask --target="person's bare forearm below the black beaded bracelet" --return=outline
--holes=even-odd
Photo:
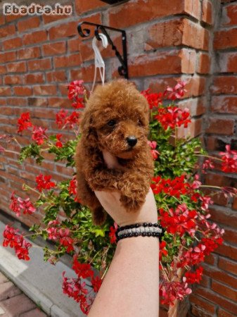
[[[157,238],[120,240],[89,317],[158,317],[158,261]]]

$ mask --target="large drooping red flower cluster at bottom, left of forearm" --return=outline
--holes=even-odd
[[[79,263],[77,255],[73,256],[72,268],[77,278],[65,278],[65,272],[63,272],[63,292],[75,299],[77,303],[79,302],[82,312],[87,315],[94,302],[95,294],[91,294],[91,291],[85,288],[86,283],[82,282],[82,278],[91,278],[91,288],[94,293],[100,289],[102,280],[94,276],[94,271],[89,264]]]

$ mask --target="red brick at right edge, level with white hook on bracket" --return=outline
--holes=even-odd
[[[237,28],[216,32],[213,42],[214,49],[231,49],[237,47]]]

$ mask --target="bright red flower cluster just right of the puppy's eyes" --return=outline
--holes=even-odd
[[[168,106],[166,108],[158,108],[158,114],[155,116],[162,127],[167,130],[168,127],[174,129],[184,125],[184,128],[188,127],[188,123],[191,123],[190,113],[188,108],[181,110],[176,106]]]

